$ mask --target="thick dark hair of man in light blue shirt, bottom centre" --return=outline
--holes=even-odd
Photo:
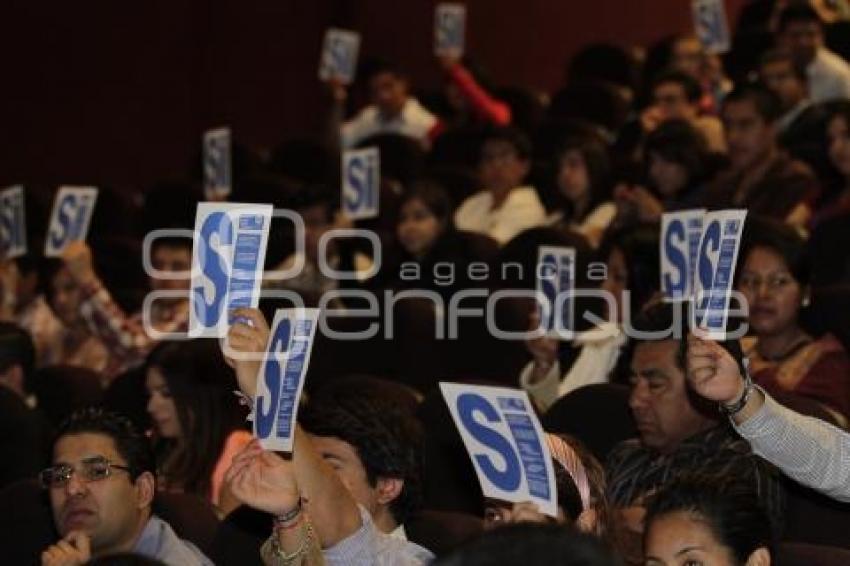
[[[298,414],[304,430],[337,438],[357,452],[371,486],[379,478],[404,481],[390,512],[403,524],[422,504],[422,442],[419,422],[409,413],[376,396],[323,396]]]

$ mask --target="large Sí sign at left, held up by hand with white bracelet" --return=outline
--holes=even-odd
[[[192,338],[222,338],[233,322],[232,309],[257,307],[272,208],[270,204],[198,204],[192,242]]]

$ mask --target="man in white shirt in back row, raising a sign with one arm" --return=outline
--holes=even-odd
[[[358,112],[339,128],[340,145],[351,148],[377,134],[400,134],[413,138],[424,147],[439,132],[440,122],[410,95],[407,77],[397,67],[387,62],[373,62],[367,68],[371,104]],[[335,123],[341,116],[347,92],[339,84],[332,84],[336,106]]]

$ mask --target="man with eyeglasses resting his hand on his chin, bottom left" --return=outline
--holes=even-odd
[[[212,564],[153,515],[153,454],[121,416],[99,409],[74,413],[59,427],[52,466],[40,479],[62,537],[42,553],[42,566],[76,566],[119,552],[180,566]]]

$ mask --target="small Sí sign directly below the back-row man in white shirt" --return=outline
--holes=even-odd
[[[378,216],[381,160],[377,147],[342,153],[342,212],[350,220]]]

